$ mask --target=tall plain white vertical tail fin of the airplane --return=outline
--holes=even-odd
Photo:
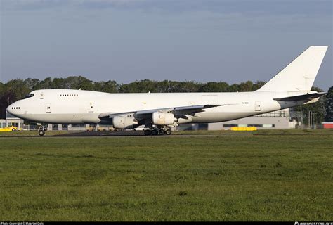
[[[257,91],[310,91],[327,46],[310,46]]]

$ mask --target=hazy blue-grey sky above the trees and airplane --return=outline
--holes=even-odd
[[[268,81],[328,45],[314,86],[333,86],[332,0],[0,1],[0,82]]]

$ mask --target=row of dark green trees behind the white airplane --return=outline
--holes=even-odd
[[[177,82],[171,80],[155,81],[143,79],[129,84],[118,84],[114,80],[107,82],[93,82],[82,76],[71,76],[67,78],[51,78],[44,80],[27,78],[12,79],[6,84],[0,82],[0,118],[6,117],[6,108],[11,103],[24,98],[30,91],[38,89],[81,89],[88,91],[103,91],[107,93],[172,93],[172,92],[237,92],[237,91],[256,91],[265,82],[242,82],[240,84],[228,84],[226,82]],[[313,87],[315,91],[322,91]],[[303,105],[303,120],[307,121],[308,111],[315,113],[316,121],[322,122],[333,120],[333,88],[329,89],[326,97],[320,98],[317,103]],[[300,110],[300,108],[296,108]],[[326,117],[326,118],[325,118]],[[330,119],[329,119],[330,118]]]

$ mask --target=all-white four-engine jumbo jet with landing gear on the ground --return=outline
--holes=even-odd
[[[310,46],[260,89],[231,93],[136,93],[45,89],[8,106],[24,120],[52,124],[112,124],[115,129],[145,126],[145,135],[171,134],[186,123],[236,120],[315,103],[311,91],[328,46]],[[45,134],[39,128],[39,135]]]

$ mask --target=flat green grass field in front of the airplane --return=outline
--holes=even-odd
[[[332,221],[333,131],[181,134],[0,137],[0,220]]]

